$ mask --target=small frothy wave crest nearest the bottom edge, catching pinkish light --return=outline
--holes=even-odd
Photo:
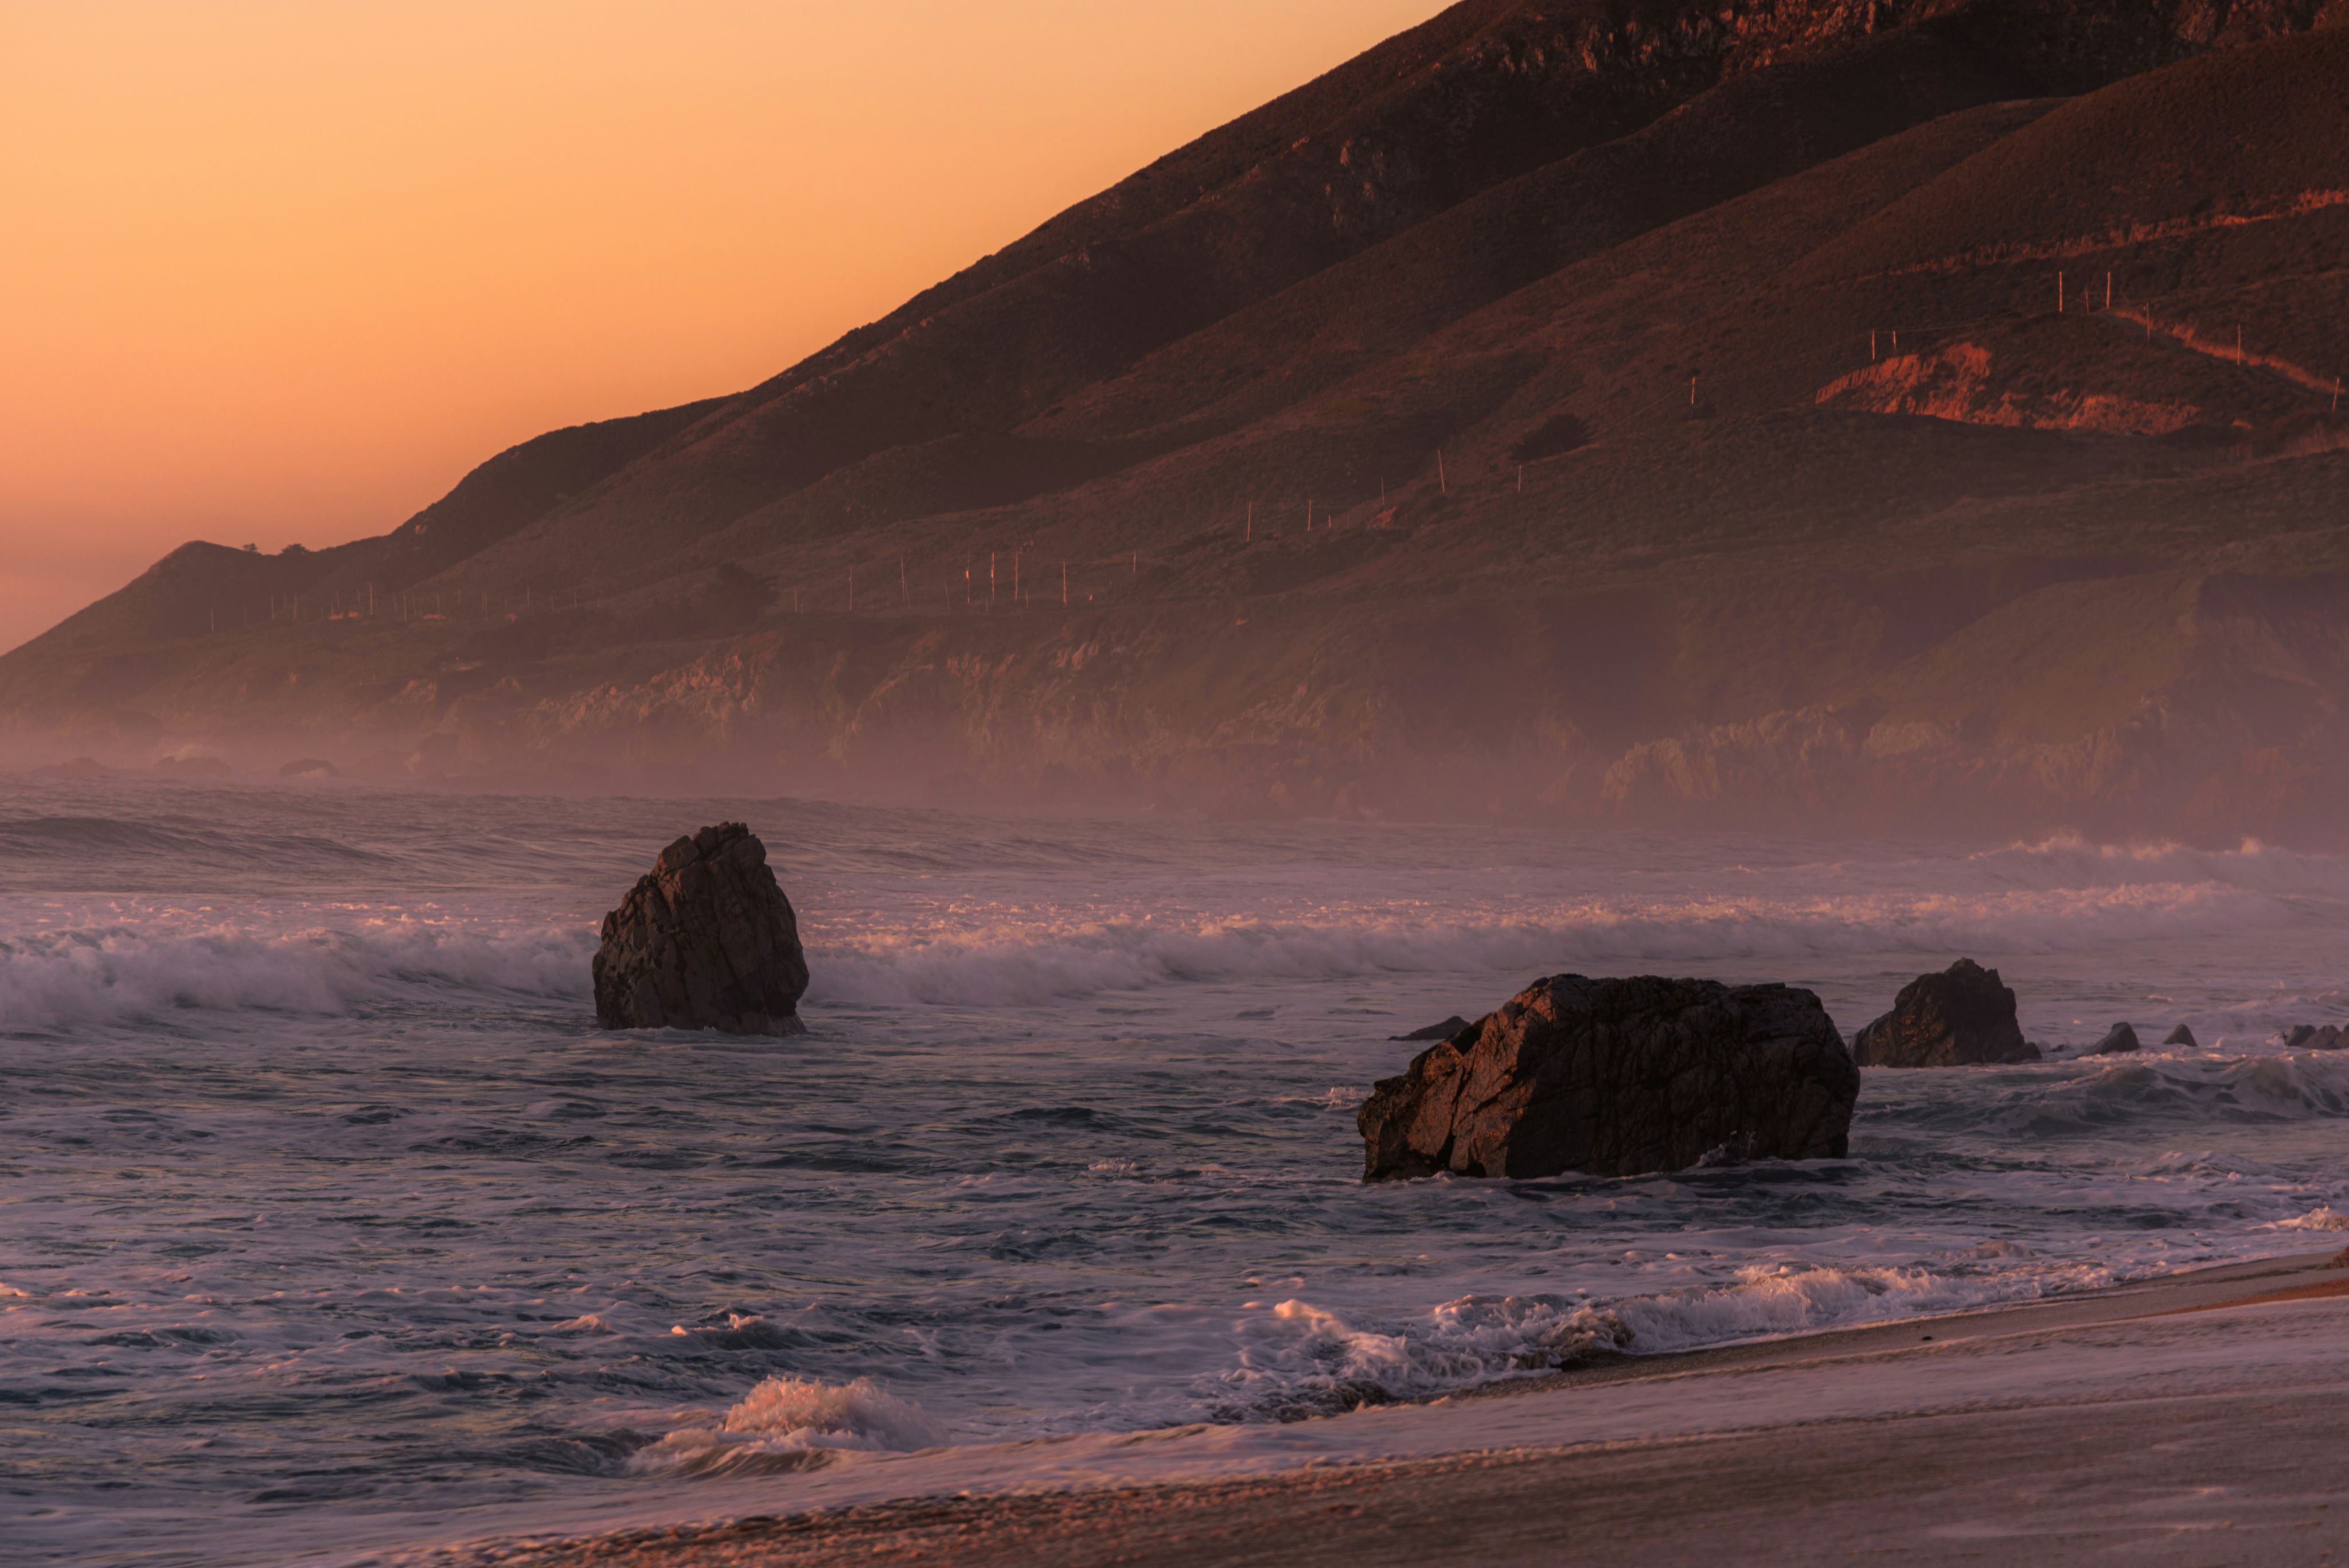
[[[768,1378],[714,1427],[681,1427],[639,1448],[639,1474],[714,1476],[747,1469],[801,1469],[836,1450],[909,1453],[944,1446],[947,1429],[871,1378],[820,1382]]]

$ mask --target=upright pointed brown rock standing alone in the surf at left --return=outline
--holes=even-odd
[[[604,917],[594,1016],[606,1030],[801,1034],[806,990],[799,917],[742,823],[662,849]]]

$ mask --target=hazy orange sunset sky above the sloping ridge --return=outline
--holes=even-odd
[[[0,649],[785,369],[1440,0],[0,0]]]

